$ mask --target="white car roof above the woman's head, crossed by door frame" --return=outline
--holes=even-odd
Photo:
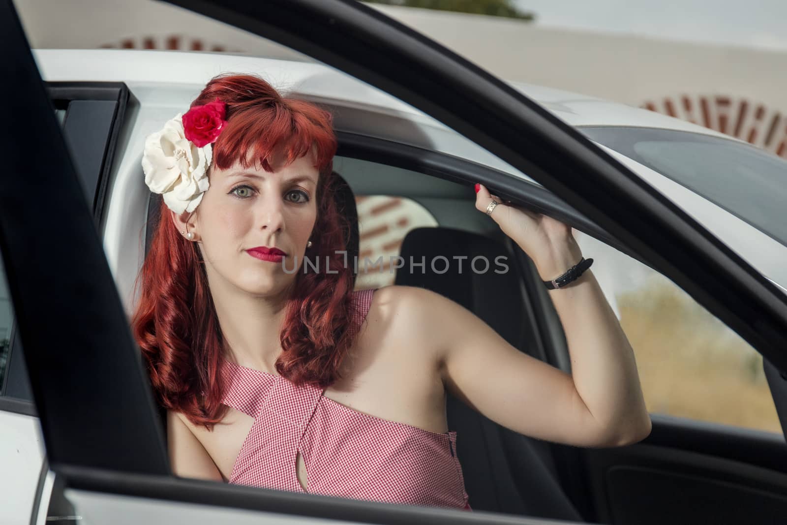
[[[161,50],[34,52],[44,79],[125,82],[135,96],[146,98],[143,103],[170,102],[181,108],[188,107],[212,76],[223,72],[257,73],[281,91],[342,107],[342,111],[335,116],[336,128],[342,131],[355,131],[426,147],[524,176],[509,165],[501,165],[497,157],[490,156],[419,109],[326,65],[231,54]],[[162,84],[169,89],[161,90]],[[572,126],[662,128],[733,140],[717,131],[645,109],[549,87],[510,84]],[[156,90],[151,92],[146,89],[148,87],[155,87]],[[376,113],[374,119],[363,117],[363,114],[368,116],[370,113]],[[342,118],[344,116],[347,118]],[[413,132],[413,124],[417,125],[419,132]]]

